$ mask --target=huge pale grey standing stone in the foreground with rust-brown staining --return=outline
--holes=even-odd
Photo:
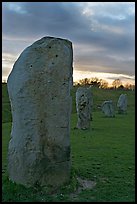
[[[8,78],[12,131],[9,177],[25,186],[69,181],[72,43],[44,37],[27,47]]]

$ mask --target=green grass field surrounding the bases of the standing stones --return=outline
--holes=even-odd
[[[93,88],[94,109],[90,130],[75,129],[77,115],[72,90],[71,160],[68,185],[57,192],[48,188],[25,188],[8,179],[7,148],[11,111],[6,84],[2,85],[2,201],[3,202],[135,202],[135,92]],[[127,114],[106,118],[98,106],[104,100],[116,103],[121,93],[128,97]],[[94,182],[79,189],[78,178]]]

